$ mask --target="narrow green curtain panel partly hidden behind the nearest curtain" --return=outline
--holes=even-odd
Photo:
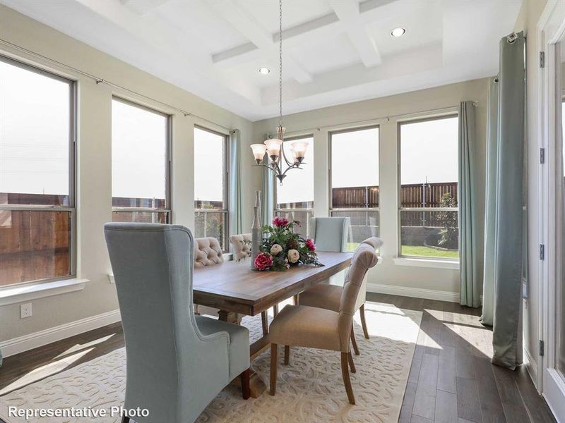
[[[490,78],[487,106],[487,186],[484,201],[484,266],[481,323],[492,326],[496,246],[496,168],[498,167],[499,77]]]

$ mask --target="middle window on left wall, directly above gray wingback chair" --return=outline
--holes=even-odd
[[[112,220],[169,223],[169,116],[112,99]]]

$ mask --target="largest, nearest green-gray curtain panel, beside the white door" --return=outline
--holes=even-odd
[[[500,41],[492,362],[509,369],[522,362],[524,47],[523,32]]]

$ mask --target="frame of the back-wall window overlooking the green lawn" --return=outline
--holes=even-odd
[[[448,257],[432,257],[432,256],[417,256],[417,255],[403,255],[402,254],[402,212],[457,212],[457,219],[459,219],[459,199],[457,201],[457,207],[401,207],[402,200],[402,137],[401,128],[402,125],[409,125],[410,123],[420,123],[420,122],[431,122],[440,121],[442,119],[448,118],[459,118],[459,112],[456,109],[453,111],[448,111],[444,114],[434,114],[429,116],[421,116],[418,118],[408,118],[403,120],[398,120],[396,123],[396,139],[397,142],[397,258],[400,259],[419,259],[422,261],[434,261],[434,262],[446,262],[446,263],[459,263],[460,262],[460,251],[458,250],[459,257],[448,258]],[[457,165],[459,171],[459,164]],[[459,184],[459,175],[457,178],[457,183]]]

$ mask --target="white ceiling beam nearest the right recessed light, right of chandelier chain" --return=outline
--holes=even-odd
[[[378,66],[382,63],[381,54],[376,47],[376,42],[367,31],[367,27],[359,22],[359,4],[355,1],[332,0],[330,5],[345,27],[347,37],[355,47],[363,64],[367,68]]]

